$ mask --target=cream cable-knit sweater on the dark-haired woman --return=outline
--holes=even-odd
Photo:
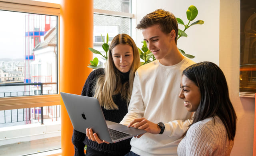
[[[234,141],[228,140],[226,128],[220,118],[193,124],[178,145],[178,156],[229,156]]]

